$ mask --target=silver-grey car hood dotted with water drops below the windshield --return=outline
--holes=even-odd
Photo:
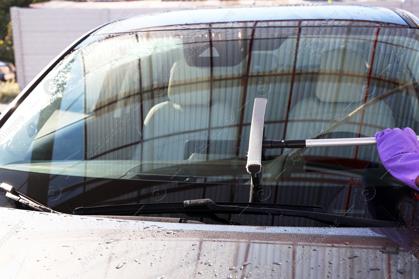
[[[0,207],[0,277],[416,278],[418,235],[417,228],[163,223]]]

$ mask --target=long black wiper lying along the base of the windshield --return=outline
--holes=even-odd
[[[316,212],[321,211],[321,212]],[[284,215],[303,217],[336,227],[398,227],[399,223],[334,215],[323,213],[320,206],[275,205],[253,202],[218,202],[210,199],[186,200],[184,202],[146,203],[131,205],[109,205],[98,207],[79,207],[75,215],[136,215],[185,213],[189,216],[211,216],[214,214],[251,214],[251,215]]]

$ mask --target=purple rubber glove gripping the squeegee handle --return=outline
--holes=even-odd
[[[419,191],[419,142],[411,128],[385,129],[375,133],[380,159],[393,177]]]

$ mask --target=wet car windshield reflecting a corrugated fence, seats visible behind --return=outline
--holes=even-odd
[[[0,181],[66,213],[204,198],[248,202],[255,97],[267,98],[266,139],[373,137],[395,127],[418,134],[418,37],[414,28],[344,20],[89,36],[1,127]],[[418,192],[388,173],[376,146],[266,149],[254,195],[259,203],[419,224]],[[325,225],[222,216],[248,225]]]

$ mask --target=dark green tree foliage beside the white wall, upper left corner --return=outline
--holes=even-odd
[[[12,22],[10,20],[10,7],[29,7],[32,3],[49,0],[0,0],[0,61],[12,62],[13,56]],[[14,22],[15,26],[18,21]]]

